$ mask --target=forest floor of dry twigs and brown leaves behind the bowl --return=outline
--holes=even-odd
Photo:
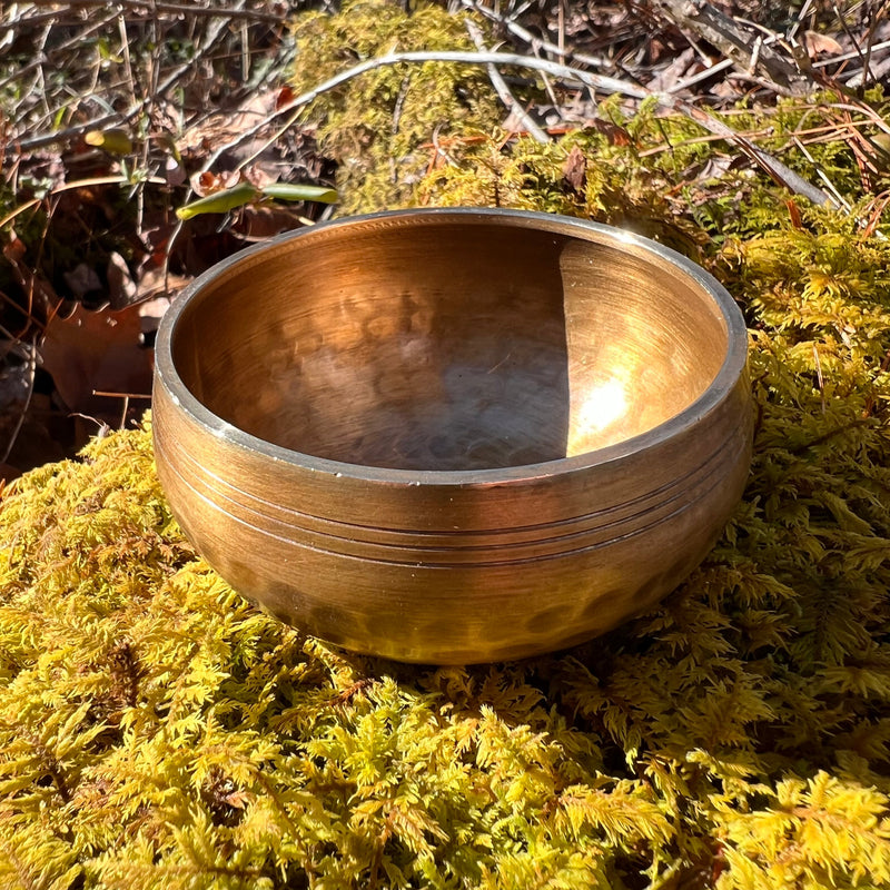
[[[511,92],[515,77],[498,76],[504,63],[484,69],[504,103],[492,127],[543,141],[605,126],[596,102],[614,92],[630,113],[654,95],[693,119],[824,89],[853,107],[890,71],[889,8],[878,0],[447,4],[454,17],[472,12],[490,26],[496,43],[471,31],[479,53],[512,57],[535,81],[538,98],[521,101]],[[291,86],[291,24],[308,9],[335,11],[334,3],[283,0],[0,6],[4,478],[141,415],[154,332],[196,275],[250,243],[336,212],[263,192],[273,182],[337,186],[344,161],[343,152],[335,161],[319,148],[317,121],[304,113],[312,97]],[[343,58],[345,78],[368,61],[353,47]],[[890,128],[877,125],[871,139],[851,138],[839,112],[837,129],[818,138],[852,141],[868,179],[890,151]],[[428,145],[445,157],[437,136],[431,129]],[[725,162],[755,162],[764,134],[738,136],[735,158]],[[768,171],[792,192],[827,194],[818,177],[783,180],[788,170],[775,161]],[[177,216],[238,182],[253,185],[253,200],[187,221]]]

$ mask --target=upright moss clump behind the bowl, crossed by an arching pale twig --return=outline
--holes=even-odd
[[[387,52],[475,51],[464,18],[432,3],[408,14],[392,0],[353,0],[337,16],[305,13],[296,23],[295,89]],[[503,113],[484,68],[441,62],[368,71],[307,110],[338,164],[342,214],[408,204],[436,144],[445,149],[467,129],[488,132]]]

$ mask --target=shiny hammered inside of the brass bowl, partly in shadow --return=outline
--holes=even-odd
[[[645,433],[720,370],[719,305],[639,243],[413,219],[323,227],[224,265],[172,332],[186,387],[285,448],[459,471]]]

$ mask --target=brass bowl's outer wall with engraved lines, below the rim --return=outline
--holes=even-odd
[[[161,484],[222,577],[329,642],[439,664],[562,649],[651,607],[731,515],[751,429],[742,375],[678,435],[613,461],[406,483],[245,447],[159,377],[154,395]]]

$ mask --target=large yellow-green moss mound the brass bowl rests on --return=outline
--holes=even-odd
[[[192,553],[146,429],[7,492],[0,888],[890,887],[887,180],[823,138],[833,115],[783,106],[767,147],[841,210],[616,102],[548,146],[455,137],[399,192],[629,225],[744,308],[744,501],[662,607],[594,644],[424,669],[303,637]]]

